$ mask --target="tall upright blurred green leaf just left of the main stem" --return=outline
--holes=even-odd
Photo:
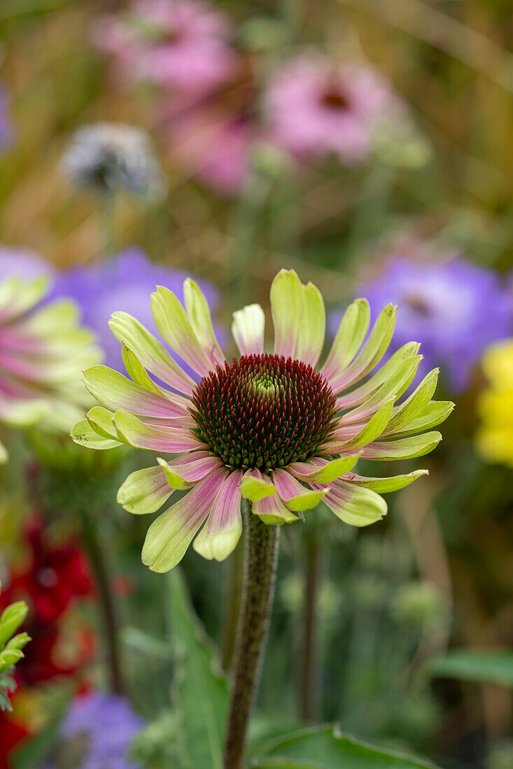
[[[183,717],[186,757],[191,769],[223,769],[226,679],[217,670],[215,649],[194,614],[179,569],[166,579],[175,654],[172,696]]]

